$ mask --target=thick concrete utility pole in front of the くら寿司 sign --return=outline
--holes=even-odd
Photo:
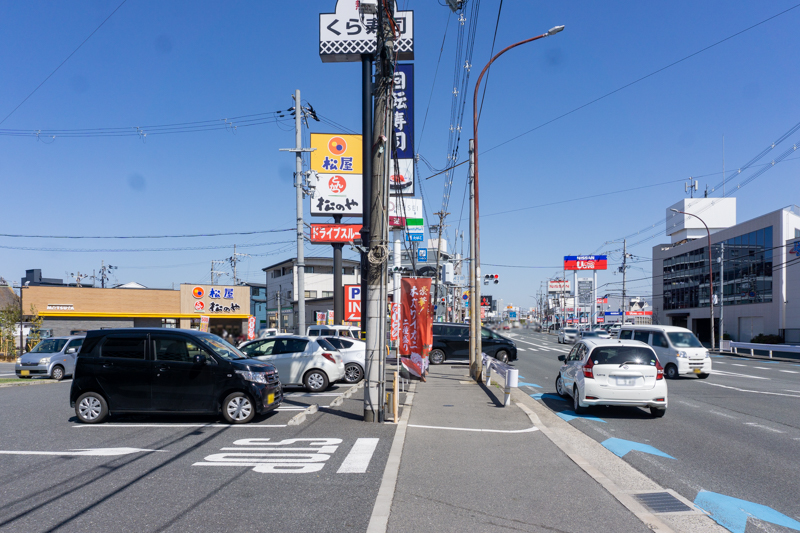
[[[386,357],[383,342],[386,337],[387,262],[389,259],[389,163],[391,161],[391,91],[394,83],[394,34],[386,20],[385,12],[393,6],[379,0],[378,44],[375,49],[375,126],[372,141],[372,176],[370,203],[364,206],[370,213],[367,263],[367,307],[366,307],[366,385],[364,391],[364,421],[382,422],[383,398],[381,394],[384,376],[383,361]],[[365,180],[366,181],[366,180]],[[363,309],[362,309],[363,311]],[[364,317],[362,316],[362,319]]]

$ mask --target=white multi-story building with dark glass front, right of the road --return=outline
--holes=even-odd
[[[661,324],[691,329],[701,341],[711,337],[708,233],[715,338],[722,333],[749,342],[758,334],[800,332],[800,314],[787,312],[787,288],[800,268],[790,268],[790,243],[800,237],[800,208],[795,205],[736,223],[735,198],[684,199],[667,210],[670,244],[653,247],[653,308]],[[800,253],[800,252],[799,252]],[[791,277],[791,282],[790,282]],[[788,340],[788,339],[787,339]]]

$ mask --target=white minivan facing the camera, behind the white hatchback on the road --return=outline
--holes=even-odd
[[[619,338],[649,344],[658,355],[668,379],[682,374],[694,374],[705,379],[711,373],[708,350],[686,328],[625,324],[620,329]]]

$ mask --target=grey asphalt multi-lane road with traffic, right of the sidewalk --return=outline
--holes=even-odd
[[[555,378],[571,346],[526,329],[499,332],[519,351],[514,366],[530,394],[555,412],[571,411],[556,399]],[[539,385],[535,387],[533,385]],[[690,501],[711,491],[771,507],[800,520],[800,365],[714,357],[706,380],[668,382],[669,408],[653,419],[638,408],[595,407],[591,418],[570,423],[598,442],[609,438],[648,444],[674,459],[632,451],[624,459]],[[549,394],[548,394],[549,393]],[[747,531],[796,531],[748,521]]]

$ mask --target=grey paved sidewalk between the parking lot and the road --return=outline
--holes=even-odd
[[[522,408],[502,407],[502,389],[468,374],[432,366],[416,385],[387,531],[651,531]]]

